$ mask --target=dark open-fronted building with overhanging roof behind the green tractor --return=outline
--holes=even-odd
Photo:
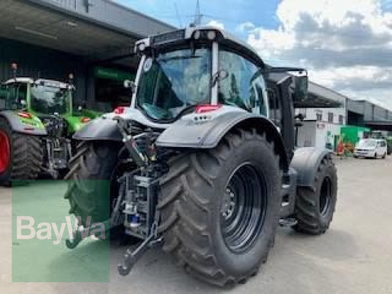
[[[109,0],[1,0],[0,81],[18,75],[65,80],[75,76],[76,100],[101,111],[126,102],[136,40],[173,29]]]

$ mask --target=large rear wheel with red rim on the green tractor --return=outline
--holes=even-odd
[[[43,162],[41,138],[13,131],[4,118],[0,118],[0,132],[8,144],[8,153],[1,150],[5,164],[0,171],[0,184],[36,179]]]

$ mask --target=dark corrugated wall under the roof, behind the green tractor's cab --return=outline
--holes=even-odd
[[[75,76],[76,101],[85,100],[86,66],[83,60],[60,51],[41,48],[0,38],[0,81],[12,77],[10,65],[19,65],[18,76],[66,81],[68,74]]]

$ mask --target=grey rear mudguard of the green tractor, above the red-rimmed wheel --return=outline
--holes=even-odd
[[[47,132],[41,120],[32,115],[31,119],[25,119],[18,116],[17,112],[12,110],[0,111],[0,117],[3,117],[10,124],[13,131],[29,135],[46,136]]]

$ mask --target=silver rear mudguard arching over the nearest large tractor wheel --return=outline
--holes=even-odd
[[[237,107],[222,107],[206,114],[191,114],[172,123],[157,139],[158,147],[185,147],[210,149],[218,146],[223,136],[234,127],[256,128],[267,132],[275,142],[285,171],[288,170],[287,154],[283,139],[275,125],[266,117],[242,111]]]

